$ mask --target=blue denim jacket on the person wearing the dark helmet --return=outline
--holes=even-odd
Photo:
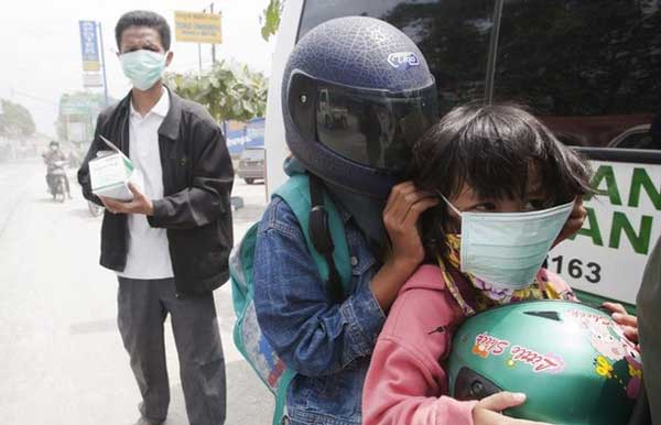
[[[338,206],[339,207],[339,206]],[[342,208],[354,293],[333,304],[290,207],[274,197],[259,224],[254,255],[257,317],[273,349],[299,374],[290,385],[292,425],[357,425],[372,349],[386,316],[370,281],[379,265]]]

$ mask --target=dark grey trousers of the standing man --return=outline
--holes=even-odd
[[[170,403],[163,323],[171,316],[191,425],[221,425],[225,358],[213,295],[175,296],[174,280],[119,277],[118,325],[142,394],[141,413],[164,421]]]

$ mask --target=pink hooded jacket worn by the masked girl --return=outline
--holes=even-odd
[[[549,273],[557,290],[571,291]],[[457,282],[470,305],[475,292]],[[447,395],[442,367],[465,316],[447,291],[441,269],[422,265],[400,290],[372,353],[362,391],[365,425],[473,425],[477,402]]]

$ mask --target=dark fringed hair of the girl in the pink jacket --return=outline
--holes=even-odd
[[[516,105],[470,103],[451,110],[415,144],[409,177],[452,199],[464,184],[489,199],[524,198],[532,175],[552,207],[592,193],[590,170],[532,115]],[[429,261],[446,253],[447,204],[425,211],[421,235]]]

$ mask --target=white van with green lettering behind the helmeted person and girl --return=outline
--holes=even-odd
[[[605,194],[586,200],[584,228],[548,266],[584,301],[635,304],[661,236],[661,1],[286,0],[267,108],[269,189],[285,179],[286,58],[312,28],[346,15],[382,19],[416,42],[442,115],[469,100],[516,100],[577,145]]]

